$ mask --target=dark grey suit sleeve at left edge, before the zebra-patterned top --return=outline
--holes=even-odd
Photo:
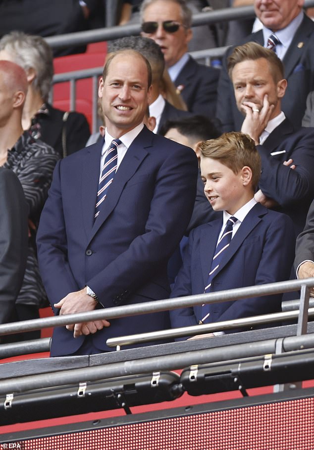
[[[21,183],[11,170],[2,167],[0,192],[0,323],[5,323],[24,277],[28,211]]]

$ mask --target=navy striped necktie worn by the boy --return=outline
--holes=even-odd
[[[211,286],[211,281],[213,279],[213,277],[216,274],[216,271],[219,267],[219,264],[222,261],[223,258],[223,254],[224,251],[229,247],[230,242],[231,242],[231,238],[232,238],[232,230],[233,230],[233,225],[237,222],[238,219],[236,219],[235,217],[229,217],[226,226],[223,230],[223,233],[220,237],[220,239],[217,242],[217,246],[216,246],[216,250],[215,250],[215,254],[212,258],[212,262],[211,262],[211,266],[210,266],[210,271],[209,271],[209,276],[208,276],[208,280],[207,280],[207,285],[205,286],[204,289],[204,293],[207,294],[208,292],[210,292],[210,286]],[[208,322],[208,318],[209,318],[209,306],[210,305],[202,305],[202,320],[200,320],[199,323],[206,323]]]

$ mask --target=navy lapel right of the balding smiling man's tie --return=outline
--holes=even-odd
[[[147,156],[147,150],[145,149],[145,147],[152,146],[153,136],[154,134],[148,131],[146,127],[144,127],[142,132],[138,136],[136,136],[136,138],[128,148],[114,176],[114,180],[110,186],[108,196],[102,204],[99,216],[94,222],[91,239],[115,208],[126,182],[130,180],[131,177],[133,177],[143,159]]]

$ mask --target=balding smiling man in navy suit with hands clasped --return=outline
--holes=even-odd
[[[146,58],[110,55],[99,86],[105,140],[56,166],[37,241],[56,314],[169,296],[167,261],[191,218],[198,164],[143,125],[150,91]],[[109,337],[167,326],[164,312],[58,327],[51,355],[101,353]]]

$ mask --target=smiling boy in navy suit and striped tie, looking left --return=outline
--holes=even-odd
[[[171,297],[289,279],[294,226],[288,216],[266,209],[254,199],[261,158],[253,139],[242,133],[225,133],[203,142],[200,149],[205,195],[215,211],[223,211],[223,218],[191,231]],[[170,312],[171,324],[176,328],[275,313],[281,311],[281,297],[276,294],[178,309]]]

